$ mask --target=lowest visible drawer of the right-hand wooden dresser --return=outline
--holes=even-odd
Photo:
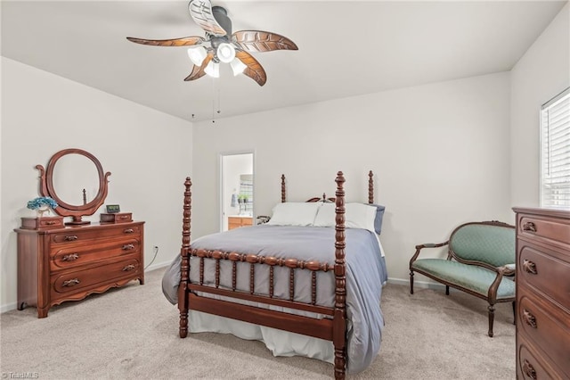
[[[524,338],[517,343],[517,380],[559,380],[557,370],[551,367],[549,359],[545,359]]]

